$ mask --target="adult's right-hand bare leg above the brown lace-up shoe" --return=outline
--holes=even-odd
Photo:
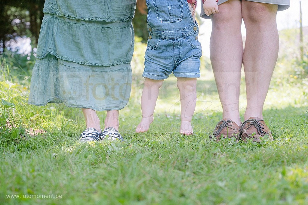
[[[244,117],[263,119],[263,105],[279,49],[277,5],[242,1],[242,14],[247,33],[243,59],[247,92]]]

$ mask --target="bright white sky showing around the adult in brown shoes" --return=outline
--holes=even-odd
[[[201,0],[199,0],[201,1]],[[300,0],[290,0],[291,7],[277,13],[278,30],[299,27],[299,2]],[[308,26],[308,0],[302,2],[302,24],[303,27]],[[201,6],[198,2],[197,13],[200,14]],[[198,15],[197,14],[197,15]],[[212,32],[212,23],[210,19],[202,19],[203,24],[200,26],[199,41],[202,44],[202,55],[209,57],[209,40]],[[242,22],[242,36],[246,35],[244,22]]]

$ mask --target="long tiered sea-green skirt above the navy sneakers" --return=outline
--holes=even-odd
[[[132,84],[136,0],[46,0],[29,104],[120,110]]]

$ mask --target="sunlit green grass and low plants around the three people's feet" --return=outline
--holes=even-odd
[[[85,128],[81,111],[27,105],[29,78],[14,76],[1,59],[1,204],[308,204],[306,79],[290,77],[289,64],[278,63],[264,110],[274,141],[209,139],[221,112],[213,74],[204,67],[193,136],[178,132],[174,77],[161,89],[149,132],[136,134],[144,52],[136,44],[132,95],[120,112],[124,143],[76,143]],[[245,88],[241,93],[245,107]],[[99,112],[101,122],[104,116]]]

